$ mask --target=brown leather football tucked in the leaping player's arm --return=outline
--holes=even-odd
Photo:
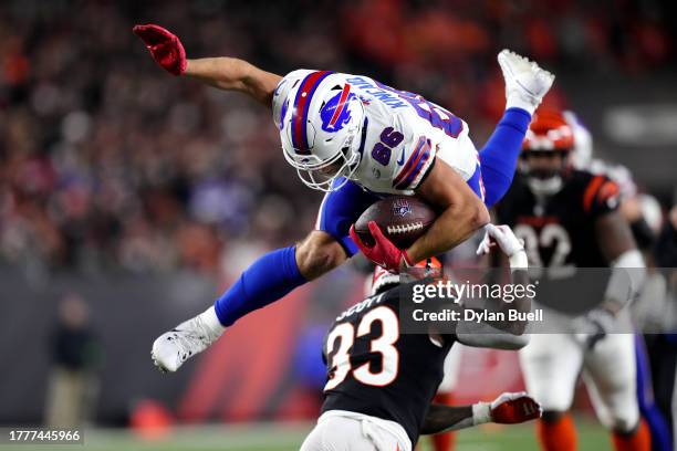
[[[394,196],[364,210],[355,222],[355,233],[365,244],[374,245],[367,224],[375,221],[393,244],[407,249],[428,230],[436,217],[437,213],[424,201],[409,196]]]

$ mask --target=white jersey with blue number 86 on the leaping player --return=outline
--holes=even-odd
[[[294,71],[285,78],[305,72],[312,71]],[[367,76],[335,75],[345,78],[351,94],[358,96],[365,109],[358,137],[362,157],[353,181],[376,193],[413,195],[436,158],[464,180],[475,174],[478,154],[462,119],[420,95],[394,90]],[[273,97],[273,111],[279,108],[275,101]]]

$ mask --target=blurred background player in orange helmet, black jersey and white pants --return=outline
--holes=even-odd
[[[539,112],[523,143],[521,174],[497,207],[497,217],[524,241],[530,269],[541,268],[554,283],[572,280],[580,268],[614,270],[606,292],[584,300],[597,307],[571,322],[571,333],[534,334],[520,350],[520,363],[527,389],[543,406],[539,439],[544,450],[575,450],[575,429],[566,412],[582,369],[615,449],[647,450],[649,438],[636,398],[634,336],[610,334],[614,328],[632,332],[624,308],[627,285],[615,283],[615,275],[633,269],[628,274],[636,292],[644,261],[618,212],[617,185],[604,175],[573,169],[569,160],[574,144],[560,112]],[[569,303],[577,301],[571,297]]]

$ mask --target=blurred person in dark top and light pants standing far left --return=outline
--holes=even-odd
[[[74,294],[59,305],[59,323],[50,337],[52,369],[48,388],[45,424],[52,428],[83,426],[94,411],[102,349],[92,333],[85,302]]]

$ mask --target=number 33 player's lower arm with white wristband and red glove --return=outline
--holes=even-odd
[[[420,433],[455,431],[487,422],[517,424],[540,418],[541,412],[541,406],[523,391],[502,394],[491,402],[472,406],[431,405]]]

